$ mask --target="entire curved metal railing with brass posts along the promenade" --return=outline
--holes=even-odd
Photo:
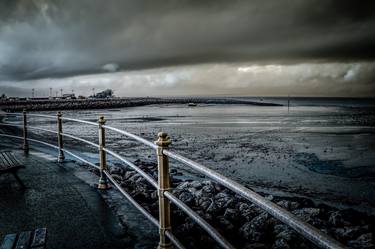
[[[8,115],[8,114],[4,114]],[[217,232],[207,221],[201,218],[195,211],[193,211],[190,207],[188,207],[184,202],[178,199],[176,196],[173,195],[171,192],[170,186],[170,174],[169,174],[169,159],[174,159],[184,165],[189,166],[191,169],[211,178],[215,182],[227,187],[228,189],[232,190],[236,194],[241,195],[242,197],[246,198],[247,200],[251,201],[261,209],[265,210],[281,222],[285,223],[286,225],[293,228],[297,233],[301,234],[315,245],[319,246],[320,248],[329,248],[329,249],[338,249],[338,248],[345,248],[342,244],[334,240],[333,238],[329,237],[327,234],[323,233],[322,231],[318,230],[317,228],[311,226],[310,224],[302,221],[297,216],[293,215],[292,213],[288,212],[287,210],[279,207],[278,205],[274,204],[273,202],[265,199],[261,195],[255,193],[254,191],[240,185],[239,183],[219,174],[218,172],[209,169],[197,162],[194,162],[186,157],[179,155],[176,152],[173,152],[169,149],[169,145],[171,143],[168,135],[164,132],[160,132],[158,134],[158,140],[155,143],[152,143],[144,138],[141,138],[137,135],[132,133],[105,125],[104,117],[100,117],[98,123],[80,120],[80,119],[73,119],[73,118],[65,118],[62,116],[61,112],[57,113],[57,116],[50,116],[50,115],[43,115],[43,114],[27,114],[26,111],[23,113],[12,113],[11,115],[17,115],[23,117],[23,125],[16,125],[16,124],[6,124],[0,123],[1,126],[15,126],[15,127],[23,127],[23,136],[14,136],[9,134],[0,134],[0,136],[4,137],[11,137],[11,138],[18,138],[23,140],[23,149],[25,152],[29,151],[29,142],[40,143],[42,145],[46,145],[58,150],[58,157],[57,160],[59,162],[63,162],[65,160],[65,154],[69,154],[72,157],[95,167],[100,172],[98,188],[102,190],[106,190],[109,188],[109,184],[111,183],[113,186],[118,189],[121,194],[130,201],[130,203],[137,208],[148,220],[151,221],[152,224],[158,226],[159,228],[159,246],[158,248],[161,249],[169,249],[172,248],[174,245],[177,248],[184,248],[184,246],[179,242],[179,240],[173,235],[172,227],[171,227],[171,212],[170,212],[170,204],[175,204],[179,209],[181,209],[185,214],[187,214],[190,218],[192,218],[203,230],[205,230],[211,238],[216,241],[222,248],[232,249],[235,248],[231,245],[223,235]],[[42,129],[38,127],[32,127],[27,125],[27,116],[34,116],[34,117],[43,117],[43,118],[50,118],[56,119],[57,123],[57,131]],[[85,140],[83,138],[64,133],[62,128],[63,121],[71,121],[71,122],[79,122],[83,124],[88,124],[91,126],[96,126],[99,129],[99,141],[98,144]],[[51,132],[57,135],[57,146],[46,143],[40,140],[28,138],[28,129],[32,130],[40,130],[44,132]],[[105,147],[105,130],[112,130],[129,138],[132,138],[152,149],[156,150],[157,156],[157,164],[158,164],[158,181],[155,181],[150,175],[148,175],[145,171],[141,168],[134,165],[132,162],[128,161],[127,159],[123,158],[116,152],[108,149]],[[78,140],[80,142],[86,143],[98,149],[99,151],[99,165],[97,166],[92,162],[85,160],[84,158],[76,155],[75,153],[66,150],[64,148],[63,137],[69,137],[71,139]],[[140,204],[138,204],[121,186],[117,183],[113,177],[111,176],[108,167],[107,167],[107,160],[106,160],[106,153],[112,155],[113,157],[119,159],[121,162],[125,163],[127,166],[135,170],[138,174],[140,174],[145,180],[150,183],[154,188],[158,191],[158,201],[159,201],[159,220],[155,219],[149,212],[146,211]]]

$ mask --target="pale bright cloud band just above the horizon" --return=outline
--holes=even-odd
[[[257,65],[207,63],[102,73],[60,79],[4,82],[9,94],[48,96],[49,87],[88,95],[115,89],[118,96],[261,95],[373,97],[375,63]],[[20,86],[23,86],[20,92]],[[24,87],[27,86],[27,87]]]

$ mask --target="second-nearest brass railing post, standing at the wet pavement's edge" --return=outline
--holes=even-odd
[[[99,118],[99,160],[100,160],[100,178],[98,183],[98,189],[108,189],[109,184],[104,170],[107,170],[106,153],[104,151],[105,146],[105,119],[103,116]]]

